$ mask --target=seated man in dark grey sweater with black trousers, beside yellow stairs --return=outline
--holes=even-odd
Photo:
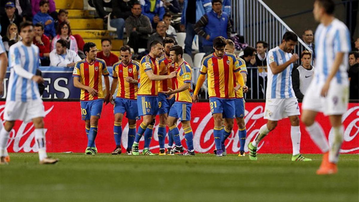
[[[141,4],[135,3],[125,22],[126,32],[129,35],[129,45],[134,49],[134,58],[138,57],[138,49],[147,48],[148,35],[152,33],[150,19],[142,14]]]

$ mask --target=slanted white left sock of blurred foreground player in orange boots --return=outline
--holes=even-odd
[[[318,124],[317,121],[313,125],[306,127],[309,136],[311,136],[314,143],[322,150],[323,153],[329,150],[329,143],[325,137],[322,127]]]

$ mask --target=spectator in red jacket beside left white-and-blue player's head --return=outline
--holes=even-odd
[[[36,23],[34,26],[33,43],[39,47],[39,56],[42,66],[50,65],[50,39],[44,35],[44,26],[41,23]]]

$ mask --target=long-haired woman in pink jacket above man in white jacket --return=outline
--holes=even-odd
[[[78,52],[77,42],[74,36],[71,35],[71,27],[70,24],[66,21],[59,24],[57,27],[57,35],[53,37],[51,42],[51,50],[56,48],[57,40],[63,39],[67,42],[67,48],[70,50]]]

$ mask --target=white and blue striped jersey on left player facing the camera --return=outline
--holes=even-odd
[[[39,66],[39,48],[36,45],[25,46],[22,41],[9,49],[10,78],[6,101],[22,101],[40,99],[38,85],[32,79],[20,77],[14,71],[14,66],[20,65],[27,72],[35,75]]]

